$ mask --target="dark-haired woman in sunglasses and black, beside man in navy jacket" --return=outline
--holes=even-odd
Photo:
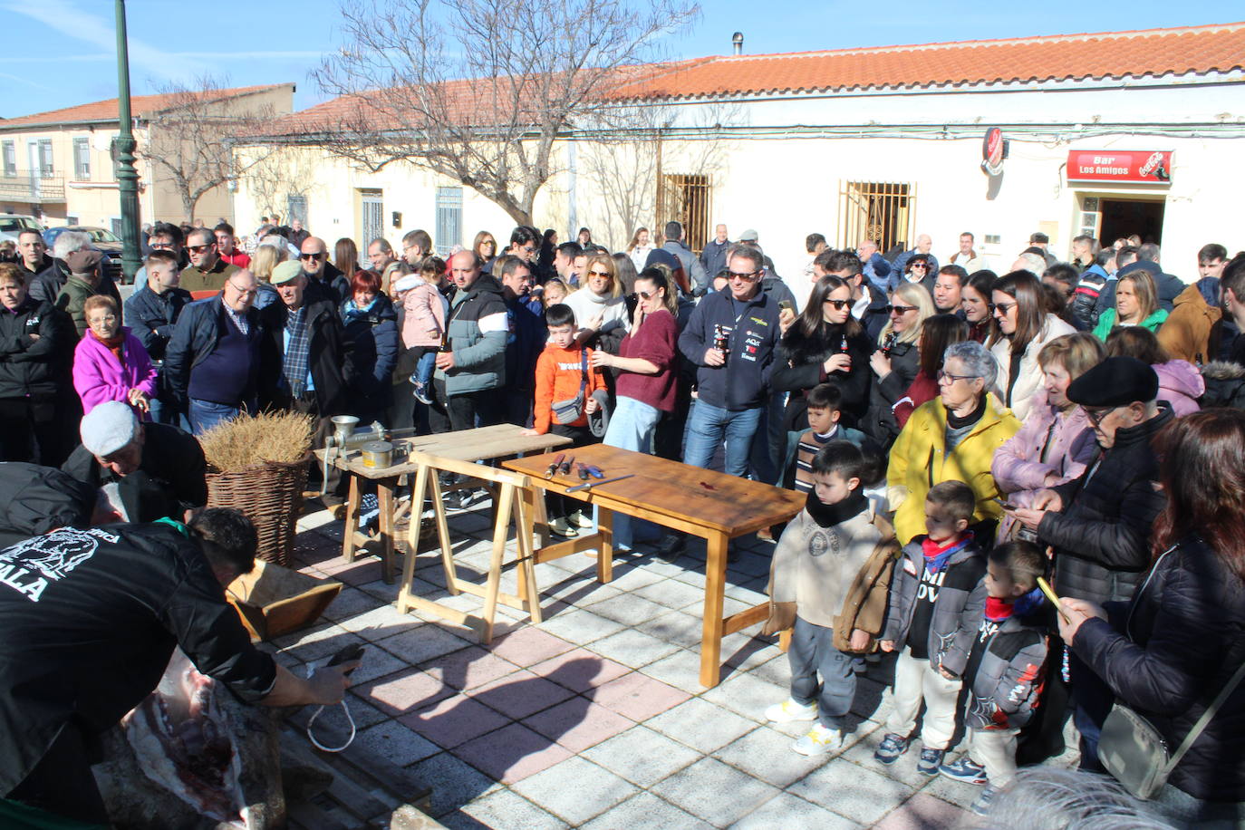
[[[788,432],[808,429],[804,396],[819,383],[843,392],[843,416],[854,426],[869,403],[869,353],[873,346],[852,316],[852,286],[837,276],[813,285],[804,311],[778,343],[769,377],[776,392],[789,392],[783,423]]]

